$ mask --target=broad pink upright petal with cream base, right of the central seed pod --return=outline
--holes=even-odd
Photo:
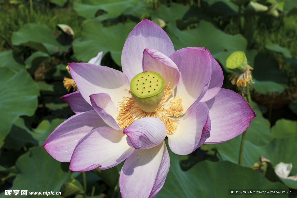
[[[209,86],[211,58],[203,47],[187,47],[177,50],[170,57],[181,74],[175,96],[181,95],[184,110],[196,100],[199,102]]]

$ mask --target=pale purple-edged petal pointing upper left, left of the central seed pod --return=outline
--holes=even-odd
[[[70,74],[80,94],[89,103],[89,96],[96,93],[107,93],[117,106],[123,96],[129,97],[128,78],[120,71],[90,63],[69,63]]]

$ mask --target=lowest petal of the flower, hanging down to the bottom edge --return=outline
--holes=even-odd
[[[135,150],[121,170],[122,197],[155,197],[165,182],[169,166],[165,142],[154,148]]]

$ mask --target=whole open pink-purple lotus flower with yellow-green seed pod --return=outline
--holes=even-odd
[[[121,62],[123,72],[68,64],[79,91],[62,99],[76,115],[43,147],[56,160],[70,162],[73,171],[107,169],[126,159],[119,178],[122,197],[154,197],[160,191],[170,164],[165,136],[174,153],[187,155],[203,143],[236,137],[256,116],[244,98],[221,88],[222,69],[208,50],[175,51],[149,20],[131,31]],[[141,98],[154,91],[156,100]]]

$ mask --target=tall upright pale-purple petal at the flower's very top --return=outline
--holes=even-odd
[[[157,50],[165,56],[174,52],[173,44],[165,31],[156,23],[143,19],[130,32],[122,51],[122,69],[129,80],[143,72],[142,55],[146,48]]]

